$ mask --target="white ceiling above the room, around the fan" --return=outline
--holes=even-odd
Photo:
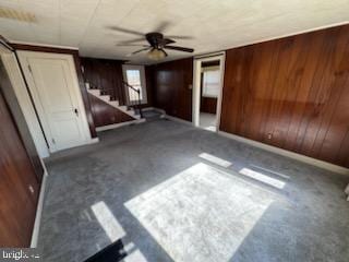
[[[165,35],[193,36],[177,45],[194,53],[224,50],[349,21],[349,0],[0,0],[0,7],[35,14],[36,22],[0,17],[10,40],[79,47],[82,56],[149,63],[137,38],[108,26],[148,33],[169,23]],[[145,44],[145,43],[144,43]],[[191,55],[169,51],[168,60]]]

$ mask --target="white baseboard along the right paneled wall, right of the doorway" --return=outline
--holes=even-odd
[[[245,144],[249,144],[249,145],[252,145],[252,146],[265,150],[265,151],[269,151],[269,152],[276,153],[278,155],[287,156],[289,158],[293,158],[293,159],[297,159],[297,160],[300,160],[300,162],[303,162],[303,163],[306,163],[306,164],[310,164],[310,165],[313,165],[313,166],[316,166],[316,167],[320,167],[320,168],[323,168],[323,169],[326,169],[329,171],[338,172],[341,175],[349,175],[349,169],[341,167],[341,166],[337,166],[337,165],[334,165],[334,164],[330,164],[327,162],[318,160],[318,159],[315,159],[315,158],[312,158],[309,156],[304,156],[304,155],[301,155],[301,154],[298,154],[294,152],[282,150],[282,148],[279,148],[279,147],[276,147],[273,145],[267,145],[267,144],[264,144],[264,143],[261,143],[257,141],[245,139],[245,138],[242,138],[242,136],[239,136],[236,134],[231,134],[231,133],[227,133],[224,131],[218,131],[218,134],[220,134],[225,138],[232,139],[232,140],[236,140],[236,141],[239,141],[239,142],[242,142],[242,143],[245,143]]]

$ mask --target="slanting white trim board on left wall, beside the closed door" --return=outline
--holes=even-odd
[[[50,155],[49,150],[47,147],[40,123],[38,121],[34,105],[24,83],[24,79],[21,73],[15,55],[13,52],[2,53],[1,58],[13,86],[20,107],[22,109],[25,121],[28,126],[35,147],[41,158],[48,157]]]

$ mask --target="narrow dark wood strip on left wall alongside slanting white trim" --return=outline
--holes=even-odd
[[[44,176],[44,168],[41,160],[37,154],[35,143],[33,141],[31,131],[27,127],[26,120],[23,116],[23,112],[20,108],[16,95],[14,93],[13,86],[10,82],[9,75],[5,71],[5,68],[0,60],[0,90],[2,91],[2,94],[4,95],[7,103],[9,105],[9,108],[11,110],[11,114],[13,118],[15,119],[16,127],[19,128],[19,132],[21,134],[21,139],[24,143],[25,150],[29,156],[29,159],[32,162],[32,165],[34,167],[36,177],[38,181],[41,181]]]

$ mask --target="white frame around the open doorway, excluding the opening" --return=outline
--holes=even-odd
[[[222,86],[225,79],[225,63],[226,63],[226,51],[207,53],[203,56],[194,57],[193,64],[193,105],[192,105],[192,122],[194,127],[200,128],[200,104],[201,104],[201,64],[202,62],[219,60],[220,70],[220,86],[217,97],[217,109],[216,109],[216,132],[219,131],[220,126],[220,114],[221,114],[221,99],[222,99]]]

